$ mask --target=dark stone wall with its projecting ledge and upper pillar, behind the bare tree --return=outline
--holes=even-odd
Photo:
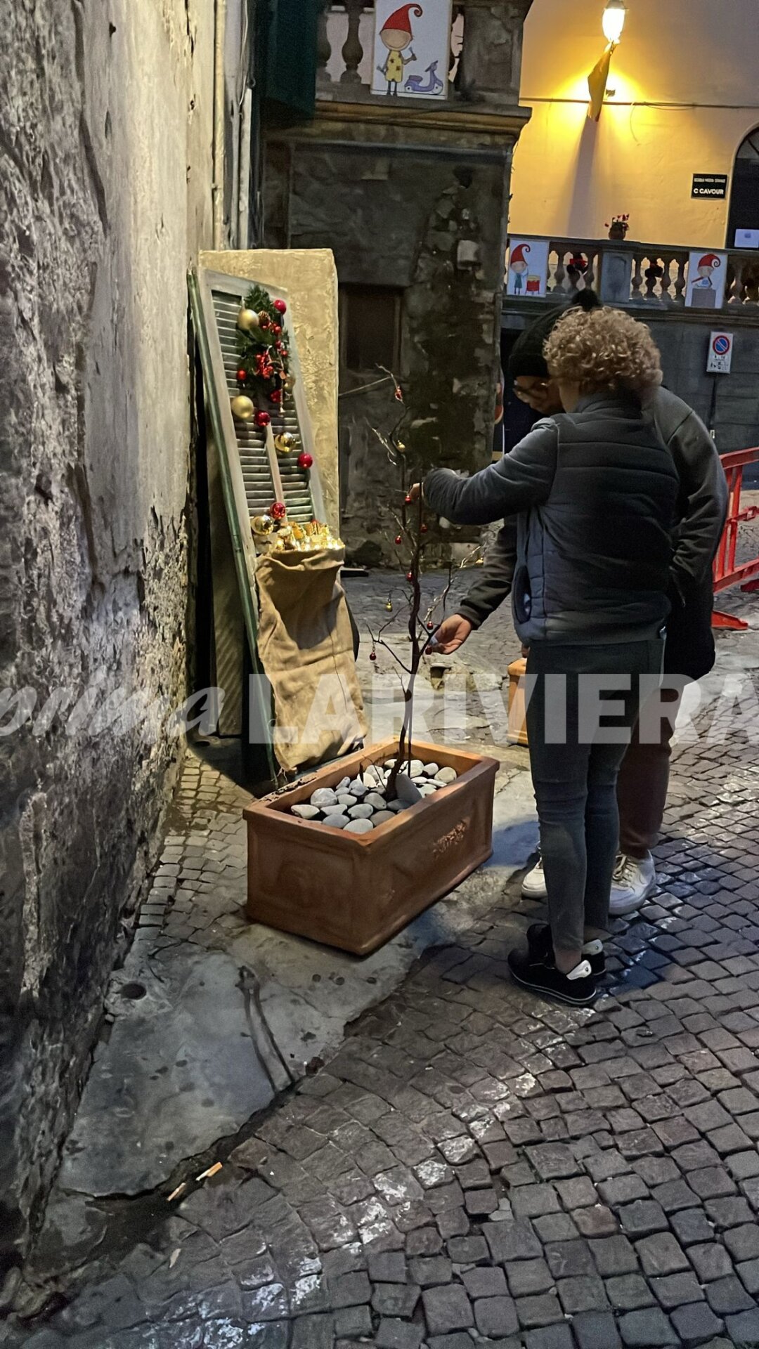
[[[371,98],[327,81],[316,120],[269,136],[269,247],[328,247],[340,286],[400,294],[402,440],[415,471],[489,461],[509,175],[528,117],[519,104],[529,0],[470,0],[461,78],[446,103]],[[397,471],[373,428],[398,415],[377,368],[342,370],[340,499],[348,558],[393,561]],[[465,536],[461,536],[465,537]],[[432,527],[428,556],[440,556]]]

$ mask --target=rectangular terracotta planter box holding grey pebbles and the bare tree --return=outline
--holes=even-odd
[[[456,781],[371,834],[344,834],[288,813],[316,788],[384,764],[396,743],[373,745],[246,808],[254,923],[367,955],[490,857],[498,764],[440,745],[416,742],[412,757],[454,768]]]

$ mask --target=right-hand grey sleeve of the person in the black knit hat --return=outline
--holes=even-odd
[[[669,440],[681,482],[681,519],[675,530],[673,579],[681,594],[705,579],[725,525],[728,486],[714,441],[690,411]]]

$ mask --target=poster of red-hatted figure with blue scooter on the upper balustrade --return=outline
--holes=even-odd
[[[452,0],[374,3],[371,93],[447,98]]]

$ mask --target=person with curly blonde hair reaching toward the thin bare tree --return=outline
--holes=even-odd
[[[523,987],[587,1006],[605,963],[617,774],[662,670],[679,483],[643,411],[662,380],[644,324],[571,309],[544,351],[563,413],[473,478],[435,469],[423,491],[452,523],[511,518],[548,925],[528,931],[509,967]]]

